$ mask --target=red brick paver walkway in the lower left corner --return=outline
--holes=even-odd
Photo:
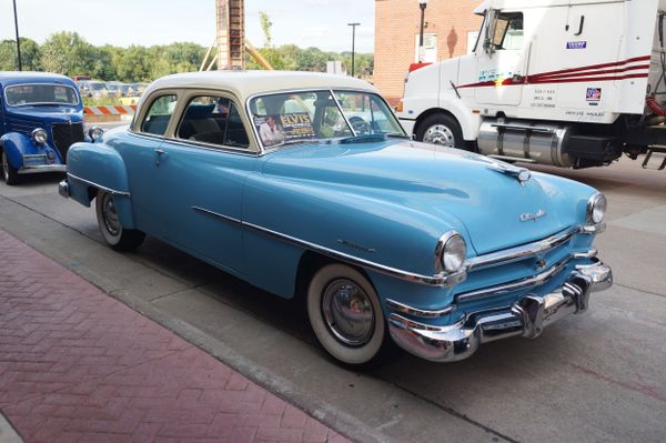
[[[27,442],[343,442],[0,231],[0,410]]]

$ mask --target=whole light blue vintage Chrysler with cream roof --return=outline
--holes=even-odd
[[[405,137],[369,83],[304,72],[165,77],[129,128],[68,153],[117,250],[152,235],[283,298],[349,365],[393,343],[453,362],[538,336],[612,284],[594,189]]]

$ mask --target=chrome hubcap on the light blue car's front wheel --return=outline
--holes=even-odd
[[[366,344],[374,332],[370,298],[351,280],[334,280],[324,290],[322,311],[329,330],[350,346]]]

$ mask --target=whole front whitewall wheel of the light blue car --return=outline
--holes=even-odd
[[[353,268],[329,264],[314,274],[307,316],[321,345],[344,364],[375,365],[392,348],[380,299]]]

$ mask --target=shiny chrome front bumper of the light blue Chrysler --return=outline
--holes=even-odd
[[[587,310],[589,294],[613,285],[613,271],[598,260],[578,265],[562,288],[547,295],[526,295],[504,310],[464,318],[457,324],[432,326],[392,313],[389,329],[406,351],[435,362],[471,356],[478,345],[509,336],[537,338],[544,328]]]

